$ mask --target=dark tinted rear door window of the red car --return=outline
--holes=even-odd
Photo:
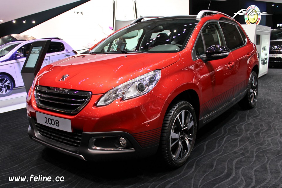
[[[235,25],[220,22],[220,26],[226,39],[226,45],[230,50],[239,48],[245,44]]]

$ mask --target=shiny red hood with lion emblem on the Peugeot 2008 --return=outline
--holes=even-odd
[[[46,66],[36,84],[102,94],[126,81],[179,60],[179,53],[80,54]],[[43,68],[44,70],[44,68]],[[62,81],[63,75],[68,77]]]

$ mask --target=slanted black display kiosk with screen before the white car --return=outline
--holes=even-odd
[[[42,66],[50,43],[51,40],[44,40],[36,41],[31,44],[24,66],[21,69],[21,76],[23,77],[26,93],[28,93],[36,74]]]

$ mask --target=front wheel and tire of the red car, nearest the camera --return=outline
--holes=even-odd
[[[196,132],[196,113],[192,105],[187,101],[171,105],[162,124],[160,143],[164,163],[171,168],[182,166],[192,152]]]

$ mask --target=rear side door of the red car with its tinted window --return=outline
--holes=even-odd
[[[237,24],[220,22],[226,45],[231,50],[234,58],[235,82],[234,97],[238,97],[247,88],[249,75],[247,75],[248,60],[254,55],[254,47],[246,45],[247,39],[244,32]]]

